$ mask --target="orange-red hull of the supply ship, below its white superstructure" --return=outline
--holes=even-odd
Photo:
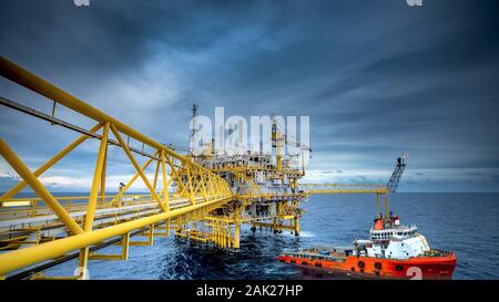
[[[279,256],[277,260],[301,267],[313,267],[366,278],[451,279],[456,268],[454,253],[442,257],[418,257],[408,260],[349,256],[342,260],[314,260]]]

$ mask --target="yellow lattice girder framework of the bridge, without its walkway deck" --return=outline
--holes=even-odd
[[[207,212],[208,210],[221,207],[234,199],[228,184],[223,178],[215,175],[213,171],[200,166],[198,164],[193,162],[192,158],[176,154],[165,145],[157,143],[156,140],[145,136],[139,131],[90,106],[83,101],[62,91],[61,88],[24,70],[23,67],[10,62],[3,56],[0,56],[0,75],[98,122],[98,124],[92,127],[90,132],[86,132],[84,135],[71,143],[53,158],[34,170],[34,173],[29,170],[26,164],[16,155],[16,153],[8,146],[8,144],[0,138],[0,155],[22,178],[22,181],[14,186],[11,190],[9,190],[9,192],[0,199],[0,202],[10,202],[11,200],[9,199],[11,199],[11,197],[13,197],[23,187],[26,187],[26,185],[29,185],[50,208],[45,208],[44,212],[42,212],[41,215],[45,215],[49,217],[52,212],[55,214],[57,218],[53,219],[57,220],[57,223],[63,223],[62,226],[65,225],[65,227],[69,229],[68,237],[63,239],[54,239],[53,241],[44,242],[35,247],[29,247],[26,249],[0,254],[0,275],[6,275],[7,273],[10,273],[14,270],[32,265],[44,260],[53,259],[74,250],[80,250],[80,263],[82,267],[86,267],[86,262],[89,259],[89,247],[92,244],[100,243],[116,236],[123,236],[131,230],[136,230],[147,226],[152,228],[154,223],[162,220],[170,220],[170,218],[173,217],[186,216],[193,212],[198,215],[197,211]],[[104,126],[102,135],[94,136],[99,138],[101,143],[98,152],[98,158],[95,160],[95,170],[92,179],[89,204],[84,209],[84,215],[82,215],[81,212],[75,215],[73,211],[74,209],[71,208],[71,204],[67,204],[67,208],[61,206],[59,200],[50,194],[50,191],[41,184],[38,177],[49,168],[51,168],[60,159],[70,154],[75,147],[83,143],[89,137],[89,135],[95,133],[102,126]],[[109,139],[110,131],[118,139],[118,143],[112,142],[112,144],[119,144],[119,146],[123,148],[130,162],[132,163],[132,166],[135,168],[136,174],[126,184],[125,188],[111,200],[111,202],[104,204],[106,198],[105,177],[108,162],[108,142],[111,142]],[[132,137],[142,143],[142,152],[130,148],[129,143],[124,142],[122,135],[128,136],[129,139],[130,137]],[[144,153],[145,146],[152,149],[152,155],[149,153]],[[140,166],[132,154],[132,149],[134,153],[140,153],[150,158],[145,162],[145,164]],[[156,160],[156,170],[153,185],[151,185],[150,180],[145,177],[144,170],[153,160]],[[170,167],[170,179],[167,179],[166,164]],[[160,197],[160,194],[156,192],[160,167],[162,168],[163,176],[162,198]],[[184,171],[187,176],[186,179],[183,179]],[[109,208],[106,207],[114,205],[119,200],[121,201],[124,191],[126,191],[126,189],[130,188],[130,186],[139,177],[142,178],[147,189],[151,191],[152,197],[152,200],[140,200],[140,202],[157,201],[159,207],[163,212],[156,214],[159,209],[154,208],[152,211],[146,211],[146,214],[142,216],[139,215],[134,216],[133,218],[115,220],[114,222],[116,225],[100,225],[102,227],[101,229],[93,230],[92,226],[94,221],[95,209],[98,208],[99,197],[102,200],[102,205],[99,205],[99,209],[109,212]],[[187,192],[189,189],[189,198],[191,200],[191,205],[182,204],[182,201],[172,204],[175,209],[170,210],[170,196],[167,187],[171,181],[176,181],[179,188],[182,188],[185,192]],[[142,205],[138,206],[142,207]],[[35,204],[30,201],[30,207],[34,209],[33,215],[38,215]],[[133,207],[135,207],[135,205],[133,205]],[[31,211],[32,209],[28,209],[28,211]],[[79,205],[78,209],[81,210],[81,205]],[[120,208],[119,210],[121,211],[122,209]],[[84,225],[83,228],[81,228],[77,222],[78,219],[73,219],[72,216],[80,217],[80,221],[83,221]],[[82,216],[84,216],[84,219],[81,218]],[[131,220],[126,221],[129,219]],[[151,240],[153,236],[154,233],[150,231]]]

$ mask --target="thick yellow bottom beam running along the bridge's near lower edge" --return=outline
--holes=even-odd
[[[162,212],[150,217],[123,222],[112,227],[98,229],[89,232],[81,232],[75,236],[45,242],[35,247],[29,247],[21,250],[0,254],[0,275],[6,275],[12,271],[45,261],[61,254],[90,247],[105,241],[112,237],[121,236],[132,230],[141,229],[152,223],[160,222],[173,217],[192,212],[202,208],[218,207],[232,200],[232,197],[220,198],[213,201],[196,204],[181,209]]]

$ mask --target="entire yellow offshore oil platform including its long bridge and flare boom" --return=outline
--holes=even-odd
[[[405,157],[398,158],[387,185],[301,184],[306,173],[304,160],[312,149],[289,139],[277,123],[272,124],[272,154],[228,156],[206,144],[201,154],[193,155],[189,148],[169,147],[150,138],[6,58],[0,58],[0,75],[53,102],[51,114],[3,96],[1,105],[80,134],[33,170],[0,138],[1,156],[21,179],[0,197],[0,279],[86,279],[89,261],[126,260],[130,246],[152,246],[155,237],[172,232],[231,249],[241,246],[243,223],[252,230],[287,230],[298,236],[301,202],[314,194],[374,194],[377,212],[384,201],[388,214],[388,194],[397,188],[406,166]],[[95,125],[88,129],[60,119],[57,106],[93,119]],[[196,110],[194,106],[193,116]],[[90,195],[54,196],[41,176],[89,139],[100,142]],[[134,147],[138,145],[141,147]],[[286,145],[301,149],[301,160],[283,156]],[[105,191],[110,147],[123,149],[135,169],[118,194]],[[136,155],[145,160],[139,163]],[[151,166],[153,178],[149,179]],[[129,192],[138,179],[149,194]],[[37,197],[18,197],[26,187]],[[99,252],[116,244],[120,253]],[[73,259],[79,263],[74,277],[43,273]]]

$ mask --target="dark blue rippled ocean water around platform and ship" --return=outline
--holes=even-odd
[[[242,248],[222,250],[183,239],[155,238],[153,247],[130,247],[128,261],[91,261],[91,279],[347,279],[275,261],[285,249],[349,246],[366,238],[376,212],[371,195],[312,196],[303,204],[299,237],[252,232],[243,227]],[[458,258],[454,279],[499,279],[499,194],[396,194],[390,209],[415,223],[432,248]],[[119,252],[109,247],[102,253]],[[48,271],[71,275],[75,261]]]

